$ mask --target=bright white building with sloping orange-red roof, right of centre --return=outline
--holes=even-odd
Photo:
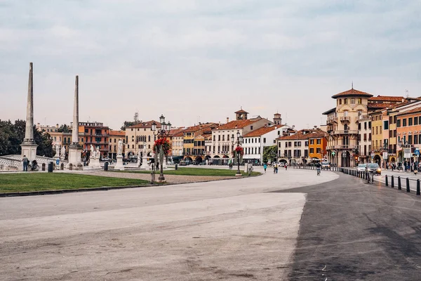
[[[246,163],[262,163],[263,148],[276,146],[276,138],[282,136],[283,125],[264,126],[243,136],[243,159]],[[276,154],[273,155],[276,158]],[[272,160],[272,159],[271,159]]]

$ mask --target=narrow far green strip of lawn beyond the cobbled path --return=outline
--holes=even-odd
[[[240,167],[241,168],[241,167]],[[242,167],[243,168],[243,167]],[[244,169],[244,168],[243,168]],[[241,171],[241,169],[240,169]],[[243,170],[244,171],[244,170]],[[248,176],[247,173],[241,171],[243,176]],[[151,171],[116,171],[124,173],[140,173],[140,174],[151,174]],[[187,168],[187,167],[178,167],[178,170],[164,170],[164,175],[183,175],[183,176],[235,176],[236,169],[206,169],[206,168]],[[258,176],[260,173],[258,171],[253,171],[251,176]]]

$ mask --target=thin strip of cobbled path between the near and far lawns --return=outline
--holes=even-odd
[[[119,173],[109,171],[89,171],[83,174],[91,176],[109,176],[111,178],[134,178],[145,181],[150,181],[150,174],[140,173]],[[158,181],[159,174],[156,174],[155,180]],[[178,175],[164,175],[167,183],[197,183],[201,181],[218,181],[229,178],[236,178],[235,176],[178,176]]]

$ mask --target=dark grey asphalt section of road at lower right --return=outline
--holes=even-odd
[[[421,280],[421,199],[341,174],[305,192],[288,280]]]

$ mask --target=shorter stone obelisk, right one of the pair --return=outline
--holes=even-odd
[[[79,76],[76,75],[76,82],[74,85],[72,144],[69,145],[69,164],[72,164],[72,169],[82,169],[81,152],[82,148],[81,145],[79,145]]]

